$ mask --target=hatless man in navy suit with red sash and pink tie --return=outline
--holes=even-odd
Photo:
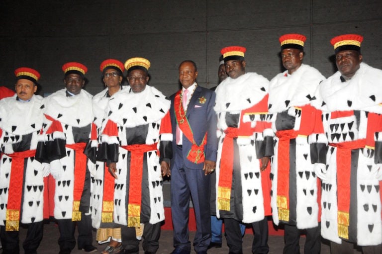
[[[171,95],[173,159],[171,161],[171,212],[174,225],[173,254],[190,254],[189,203],[195,211],[197,254],[206,254],[211,242],[210,173],[215,170],[217,136],[215,93],[196,84],[196,64],[179,66],[182,89]]]

